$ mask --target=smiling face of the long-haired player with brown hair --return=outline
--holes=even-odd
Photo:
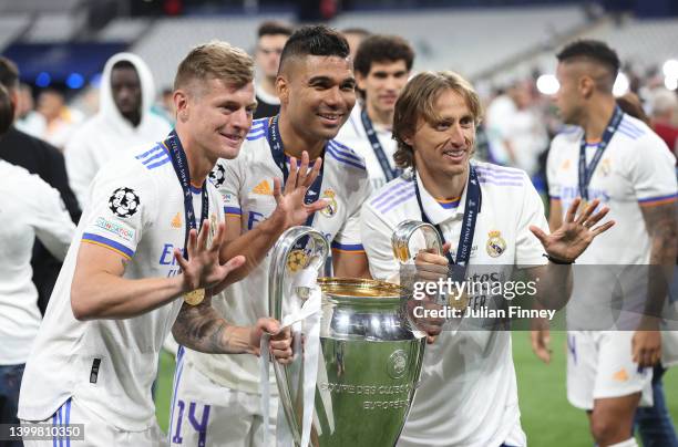
[[[474,152],[475,121],[462,95],[448,89],[435,100],[438,118],[419,118],[414,135],[405,142],[414,150],[422,176],[443,178],[465,174]]]

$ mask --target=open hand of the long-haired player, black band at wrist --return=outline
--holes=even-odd
[[[530,231],[537,237],[544,246],[546,253],[559,261],[574,262],[590,245],[594,238],[615,225],[614,220],[609,220],[603,225],[595,227],[600,219],[609,212],[609,208],[603,207],[600,211],[594,214],[600,200],[595,199],[579,216],[576,216],[577,209],[582,199],[576,198],[567,209],[565,221],[561,228],[556,229],[551,235],[546,235],[541,228],[530,226]],[[595,227],[595,228],[594,228]]]

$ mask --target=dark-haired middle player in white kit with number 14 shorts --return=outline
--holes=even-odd
[[[305,27],[282,51],[276,87],[280,114],[255,121],[238,158],[219,160],[213,180],[224,195],[226,240],[248,235],[269,219],[275,208],[271,178],[292,174],[307,152],[321,158],[309,200],[320,197],[326,208],[306,225],[331,242],[335,274],[366,277],[367,258],[360,238],[360,207],[369,195],[364,162],[331,138],[356,101],[355,79],[346,40],[326,27]],[[290,268],[302,261],[298,250]],[[269,261],[225,291],[218,309],[234,324],[268,315]],[[275,380],[274,380],[275,381]],[[175,446],[260,446],[263,443],[259,366],[257,358],[206,355],[186,350],[175,378],[171,440]],[[277,389],[271,382],[271,389]],[[275,405],[274,405],[275,406]],[[276,415],[275,407],[271,415]],[[268,446],[266,446],[268,447]]]

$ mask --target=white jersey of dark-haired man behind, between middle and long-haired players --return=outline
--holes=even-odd
[[[367,131],[364,129],[362,119],[360,118],[361,112],[362,108],[360,107],[360,104],[356,104],[348,121],[343,126],[341,126],[341,129],[339,129],[339,134],[337,134],[335,141],[350,147],[358,155],[364,158],[364,164],[370,176],[370,184],[372,189],[377,190],[386,185],[387,177],[383,174],[383,169],[381,168],[379,159],[377,158],[377,155],[374,155],[374,149],[372,148],[372,145],[367,136]],[[373,127],[377,138],[381,144],[381,148],[389,160],[389,165],[392,169],[394,169],[396,162],[393,160],[393,154],[398,148],[398,144],[393,139],[393,134],[390,129],[383,126],[373,125]]]

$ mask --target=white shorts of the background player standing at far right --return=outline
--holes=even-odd
[[[640,406],[653,405],[653,368],[638,371],[631,360],[633,331],[567,332],[567,399],[593,409],[594,399],[641,393]]]

